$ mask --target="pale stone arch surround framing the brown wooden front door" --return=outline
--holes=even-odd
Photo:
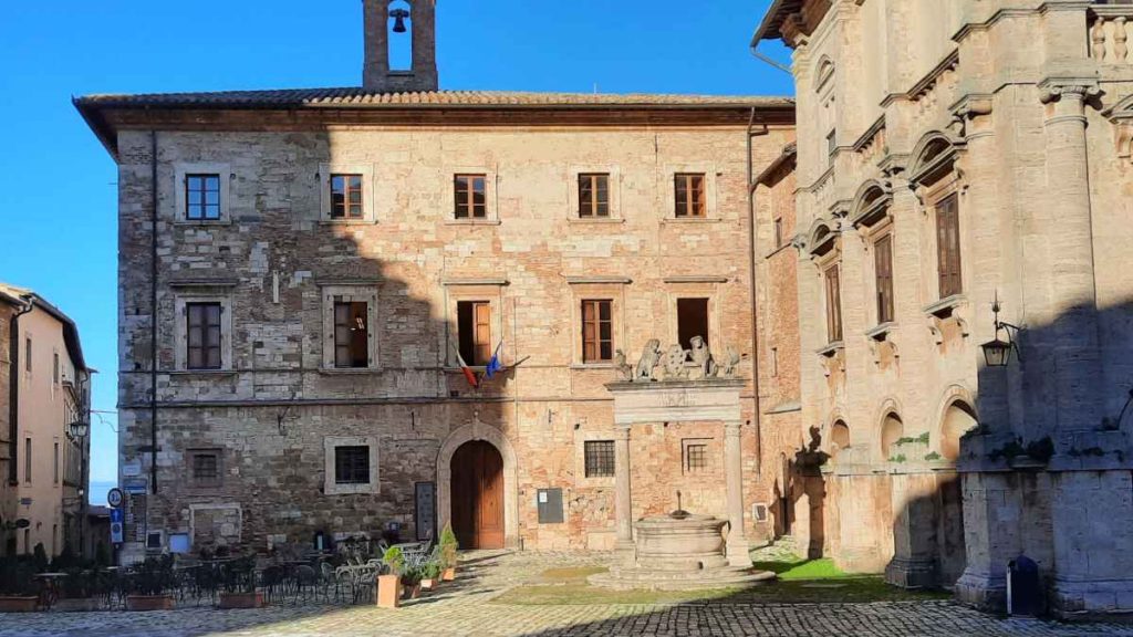
[[[485,441],[503,458],[503,529],[504,546],[519,546],[519,465],[511,441],[496,427],[474,422],[454,430],[444,439],[436,457],[437,529],[452,519],[452,456],[466,442]]]

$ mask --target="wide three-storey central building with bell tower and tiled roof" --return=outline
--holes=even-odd
[[[790,100],[440,91],[434,2],[393,5],[364,3],[361,87],[77,100],[120,169],[135,554],[449,520],[469,547],[610,549],[623,356],[752,351],[747,144],[755,117],[755,165],[780,154]],[[723,516],[723,438],[634,425],[633,517],[678,491]]]

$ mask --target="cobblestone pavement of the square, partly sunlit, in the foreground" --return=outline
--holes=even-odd
[[[1133,627],[1002,620],[949,602],[875,604],[505,605],[501,592],[537,580],[548,568],[600,563],[600,555],[478,554],[461,579],[435,595],[391,611],[373,606],[283,605],[252,611],[187,609],[150,613],[0,615],[0,637],[204,636],[1022,636],[1116,635]]]

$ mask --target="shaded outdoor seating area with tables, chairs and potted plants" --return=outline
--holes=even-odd
[[[445,530],[441,543],[358,537],[326,550],[282,544],[262,553],[167,553],[121,568],[104,560],[8,558],[0,562],[0,612],[365,604],[377,601],[380,580],[390,577],[398,598],[417,596],[454,571],[455,538]]]

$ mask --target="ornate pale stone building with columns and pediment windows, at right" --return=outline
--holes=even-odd
[[[775,0],[759,26],[809,122],[801,424],[842,567],[1002,606],[1023,553],[1054,611],[1133,610],[1130,17]]]

